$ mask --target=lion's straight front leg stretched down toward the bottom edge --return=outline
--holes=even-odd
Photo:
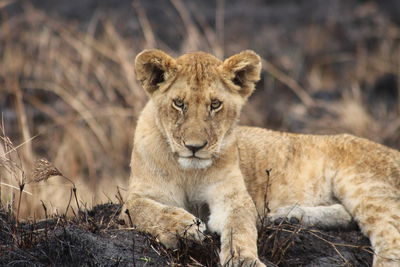
[[[265,266],[257,256],[257,212],[241,177],[211,186],[209,229],[221,235],[223,266]]]

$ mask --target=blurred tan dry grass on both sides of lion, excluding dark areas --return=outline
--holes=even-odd
[[[226,1],[216,1],[215,25],[201,12],[194,12],[198,7],[192,2],[170,0],[168,4],[185,31],[180,47],[174,49],[154,31],[153,18],[139,0],[133,1],[131,8],[142,31],[140,36],[124,34],[100,11],[86,26],[55,18],[29,4],[12,16],[3,14],[3,138],[10,136],[18,147],[12,161],[19,166],[12,174],[4,171],[5,164],[0,162],[1,182],[9,185],[1,187],[3,203],[14,203],[17,209],[15,198],[22,172],[33,171],[35,160],[41,157],[50,159],[73,180],[78,199],[77,204],[72,203],[74,209],[80,204],[115,201],[117,187],[122,192],[126,188],[132,134],[147,101],[135,80],[135,55],[144,48],[157,47],[173,55],[204,50],[222,58],[248,48],[227,42]],[[356,15],[368,16],[373,8],[363,5]],[[350,132],[399,148],[399,92],[397,107],[388,109],[381,98],[368,99],[370,93],[364,90],[374,88],[387,74],[397,77],[397,90],[400,84],[400,30],[387,21],[383,25],[390,27],[382,29],[373,49],[360,42],[354,51],[326,55],[324,45],[332,36],[326,26],[311,25],[304,49],[296,58],[266,55],[263,82],[244,109],[242,122],[308,133]],[[376,32],[372,29],[362,34],[374,36]],[[338,91],[339,97],[316,97],[320,91]],[[4,148],[6,143],[2,144]],[[5,152],[1,153],[4,157]],[[30,194],[22,194],[18,213],[22,217],[43,216],[43,205],[49,214],[62,213],[71,188],[62,176],[28,183],[24,191]]]

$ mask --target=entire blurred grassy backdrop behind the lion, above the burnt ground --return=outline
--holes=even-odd
[[[400,148],[400,2],[396,0],[0,0],[2,203],[45,157],[89,207],[129,177],[147,101],[133,63],[144,48],[263,57],[241,123],[352,133]],[[16,153],[16,151],[18,153]],[[10,165],[10,162],[14,164]],[[21,216],[59,212],[71,184],[25,188]]]

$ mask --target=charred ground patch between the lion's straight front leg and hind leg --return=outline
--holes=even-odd
[[[278,266],[371,266],[369,241],[359,230],[323,231],[298,224],[268,226],[260,255]]]

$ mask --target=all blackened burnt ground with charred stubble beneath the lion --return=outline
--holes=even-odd
[[[121,229],[120,205],[103,204],[67,219],[54,216],[15,225],[0,213],[1,266],[217,266],[218,237],[204,244],[181,240],[165,249],[149,235]],[[268,266],[371,266],[369,241],[358,230],[322,231],[281,222],[259,234]]]

